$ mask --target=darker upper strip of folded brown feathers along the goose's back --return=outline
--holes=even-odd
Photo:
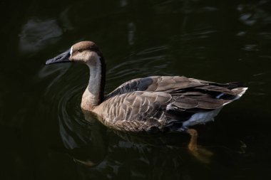
[[[217,92],[214,94],[225,93],[228,95],[237,95],[233,88],[239,87],[239,83],[213,83],[205,80],[185,78],[184,76],[150,76],[147,78],[138,78],[129,80],[120,85],[116,90],[106,95],[105,100],[116,95],[122,95],[134,91],[149,92],[175,92],[176,90],[203,90],[206,92]]]

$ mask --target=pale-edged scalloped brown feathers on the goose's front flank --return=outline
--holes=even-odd
[[[172,96],[166,92],[129,92],[103,102],[102,117],[112,126],[132,121],[148,124],[163,118],[163,110],[171,99]],[[158,124],[160,125],[160,122]]]

